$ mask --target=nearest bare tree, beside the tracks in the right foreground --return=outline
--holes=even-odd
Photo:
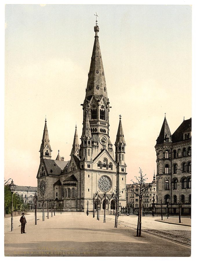
[[[139,176],[136,177],[136,182],[131,180],[133,182],[132,188],[129,190],[136,194],[136,196],[139,197],[139,211],[138,211],[138,224],[137,224],[137,232],[136,236],[141,237],[141,224],[142,224],[142,198],[143,195],[148,191],[148,189],[152,186],[152,183],[146,183],[147,178],[145,178],[146,174],[143,175],[143,171],[141,168],[139,168]]]

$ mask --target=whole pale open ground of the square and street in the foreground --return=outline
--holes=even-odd
[[[142,217],[142,237],[136,237],[137,216],[120,216],[118,228],[113,215],[103,223],[102,215],[98,221],[91,212],[50,214],[45,221],[38,212],[37,225],[33,212],[25,216],[26,234],[20,232],[19,216],[12,232],[11,218],[5,218],[6,256],[190,256],[191,227],[158,222],[159,217]]]

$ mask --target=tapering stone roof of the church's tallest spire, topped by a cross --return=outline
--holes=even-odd
[[[103,62],[101,58],[101,49],[98,41],[99,27],[97,25],[97,21],[96,21],[96,26],[94,26],[94,32],[95,32],[94,47],[92,51],[90,71],[88,73],[88,81],[87,81],[87,89],[86,89],[85,97],[87,98],[87,100],[90,100],[92,95],[95,95],[96,99],[97,98],[99,99],[102,96],[104,96],[107,102],[108,100],[107,89],[106,89],[105,74],[103,69]]]

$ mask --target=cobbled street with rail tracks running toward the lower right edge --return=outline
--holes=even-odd
[[[107,216],[107,219],[114,220],[114,216]],[[118,223],[125,227],[137,228],[137,216],[119,216]],[[157,217],[158,219],[158,217]],[[147,232],[182,245],[191,245],[191,227],[176,224],[161,223],[153,217],[142,217],[142,232]]]

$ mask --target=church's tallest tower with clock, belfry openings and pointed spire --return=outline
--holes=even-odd
[[[97,23],[96,26],[94,26],[94,32],[94,47],[88,73],[85,100],[83,104],[81,104],[83,106],[83,122],[85,122],[87,115],[92,135],[92,159],[105,148],[112,158],[114,158],[112,143],[109,137],[110,102],[107,97],[101,49],[98,41],[99,27]]]

